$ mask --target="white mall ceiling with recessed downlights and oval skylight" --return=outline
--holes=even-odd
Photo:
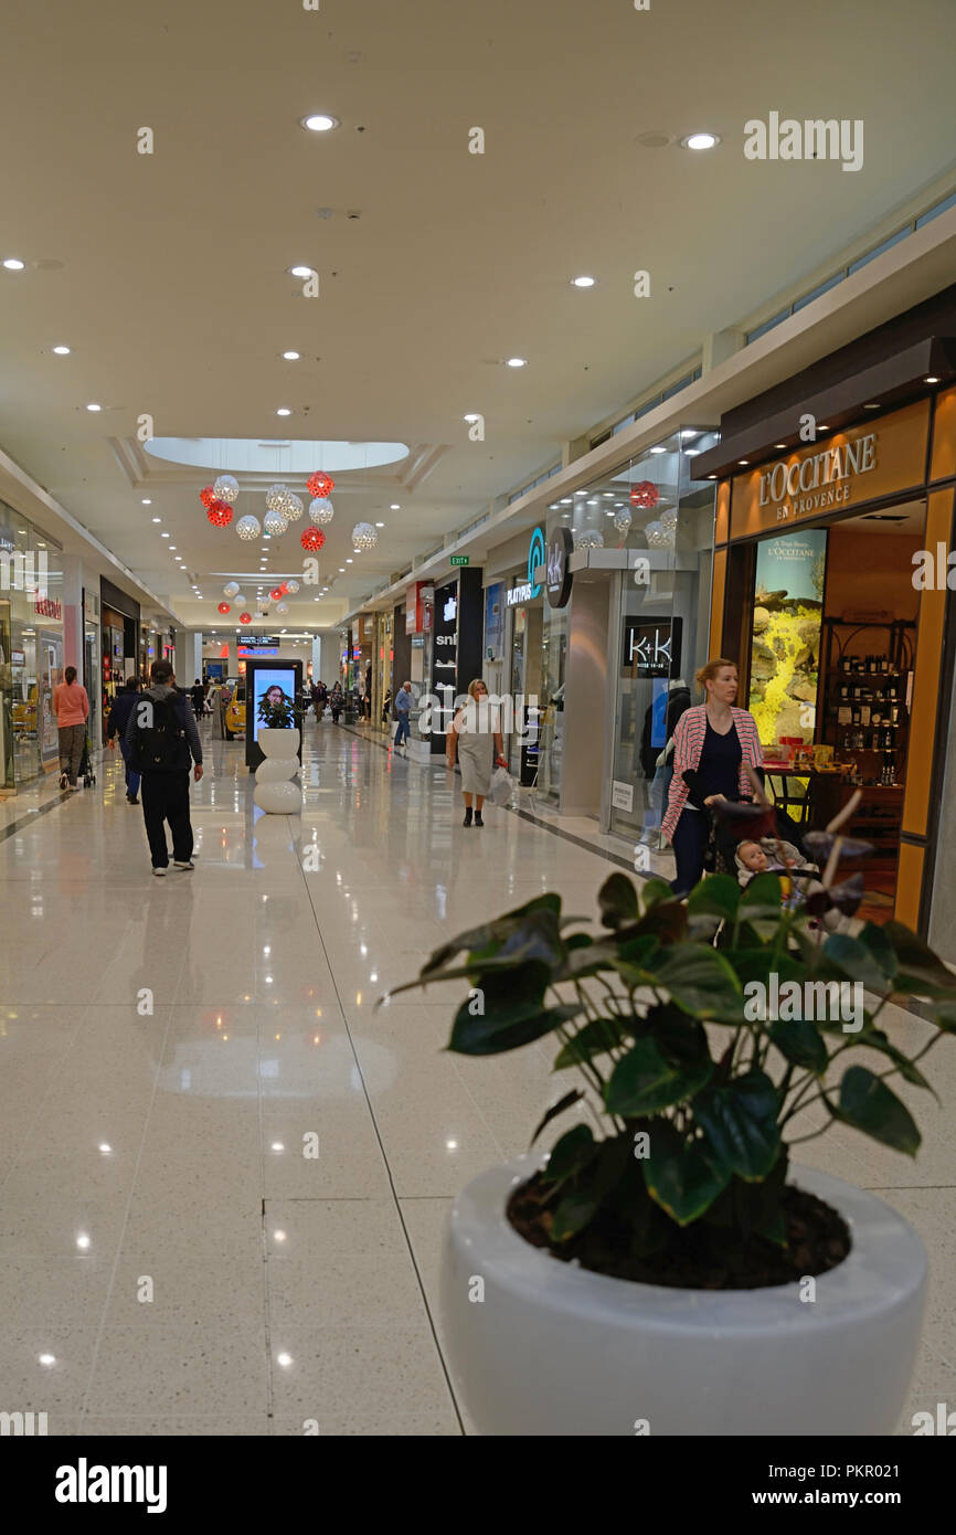
[[[206,522],[207,476],[143,454],[141,413],[158,436],[411,447],[338,476],[336,600],[302,588],[285,620],[331,623],[944,175],[956,141],[951,0],[8,0],[5,43],[0,256],[28,267],[0,269],[0,445],[196,628],[209,573],[256,576],[259,543]],[[304,132],[316,111],[342,126]],[[770,111],[861,118],[862,170],[744,160]],[[680,149],[695,129],[721,144]],[[648,130],[675,141],[643,149]],[[359,519],[385,523],[379,548],[345,565]],[[272,577],[301,569],[301,527]]]

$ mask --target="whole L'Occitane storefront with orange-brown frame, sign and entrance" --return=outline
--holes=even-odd
[[[784,413],[752,421],[701,465],[720,482],[710,654],[738,665],[773,797],[809,830],[859,789],[847,829],[875,849],[859,915],[922,933],[941,870],[953,686],[956,387],[939,382],[910,381],[922,398],[898,410],[864,401],[852,422],[830,390],[833,408],[813,402],[827,414],[807,401],[789,433]]]

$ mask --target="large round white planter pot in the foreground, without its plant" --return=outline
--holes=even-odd
[[[841,1213],[850,1256],[801,1285],[668,1289],[562,1263],[505,1203],[542,1157],[476,1177],[442,1262],[453,1377],[480,1434],[892,1434],[919,1343],[927,1257],[888,1205],[841,1179],[790,1182]],[[483,1300],[476,1280],[483,1280]],[[643,1428],[646,1421],[648,1429]]]

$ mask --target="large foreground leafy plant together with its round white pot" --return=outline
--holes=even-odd
[[[862,895],[859,875],[835,883],[838,861],[867,849],[836,824],[810,838],[827,867],[799,906],[781,904],[778,873],[743,890],[714,875],[686,903],[614,873],[602,933],[542,895],[443,944],[411,982],[468,982],[450,1050],[552,1035],[555,1070],[585,1079],[534,1131],[577,1114],[551,1154],[483,1173],[451,1213],[442,1312],[480,1432],[893,1431],[922,1243],[792,1151],[839,1122],[916,1153],[887,1078],[928,1088],[928,1045],[907,1053],[879,1013],[927,998],[935,1044],[956,1027],[956,978],[899,923],[819,942],[810,924]]]

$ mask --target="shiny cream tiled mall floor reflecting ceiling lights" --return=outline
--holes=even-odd
[[[442,1223],[526,1148],[552,1051],[442,1053],[457,998],[440,989],[373,1004],[540,890],[592,912],[614,866],[580,827],[490,809],[465,830],[442,766],[331,723],[305,728],[301,823],[253,810],[238,744],[207,741],[206,764],[196,870],[166,880],[109,754],[95,789],[0,806],[0,1409],[45,1411],[51,1434],[468,1432]],[[884,1191],[930,1248],[901,1432],[956,1401],[947,1044],[941,1104],[904,1093],[916,1162],[852,1131],[801,1148]]]

